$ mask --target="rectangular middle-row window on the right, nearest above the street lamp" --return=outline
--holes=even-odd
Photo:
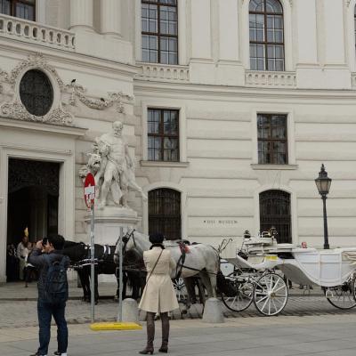
[[[287,115],[258,114],[258,163],[287,165]]]

